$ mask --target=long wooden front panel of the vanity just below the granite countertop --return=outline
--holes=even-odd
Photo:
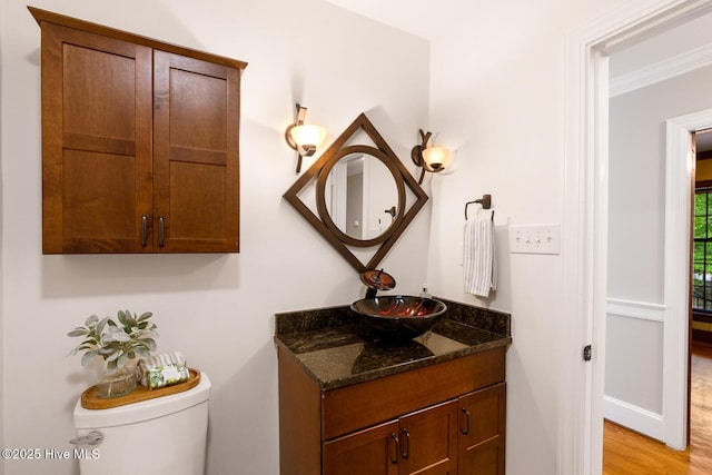
[[[322,393],[324,441],[504,380],[504,347]]]

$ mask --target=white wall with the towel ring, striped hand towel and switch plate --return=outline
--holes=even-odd
[[[563,219],[564,37],[622,1],[457,2],[472,21],[433,41],[432,122],[456,149],[453,171],[432,178],[428,279],[436,295],[512,313],[507,352],[507,474],[557,473],[562,259],[511,255],[510,225]],[[492,194],[500,285],[463,291],[466,201]],[[469,212],[475,209],[469,208]],[[568,258],[574,258],[568,256]]]

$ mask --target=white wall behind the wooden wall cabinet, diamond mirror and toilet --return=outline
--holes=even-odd
[[[281,198],[296,179],[284,130],[297,101],[327,127],[327,141],[363,111],[415,174],[409,148],[428,117],[427,42],[319,0],[32,2],[249,62],[239,255],[42,256],[40,29],[26,3],[3,0],[0,19],[2,445],[69,448],[72,406],[92,379],[66,357],[77,343],[66,333],[91,314],[151,310],[159,349],[182,350],[214,384],[208,473],[277,474],[273,315],[363,295],[356,271]],[[428,205],[383,261],[399,291],[425,281],[426,261],[413,256],[427,251],[429,215]],[[77,472],[57,461],[3,468]]]

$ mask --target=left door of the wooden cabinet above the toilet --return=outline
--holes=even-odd
[[[150,48],[42,23],[44,254],[150,250],[151,73]]]

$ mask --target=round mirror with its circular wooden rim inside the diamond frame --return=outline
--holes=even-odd
[[[319,217],[339,239],[366,247],[383,243],[404,214],[405,188],[377,148],[339,150],[319,171]]]

